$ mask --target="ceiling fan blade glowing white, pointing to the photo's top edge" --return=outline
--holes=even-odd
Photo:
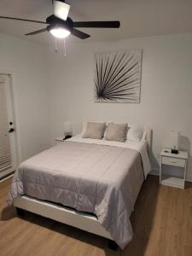
[[[54,1],[55,16],[61,20],[67,20],[70,5],[61,1]]]

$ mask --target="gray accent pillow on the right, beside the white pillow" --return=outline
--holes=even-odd
[[[124,143],[126,140],[127,124],[108,124],[106,140]]]

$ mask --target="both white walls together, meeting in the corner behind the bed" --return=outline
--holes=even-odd
[[[163,138],[181,131],[189,148],[188,178],[192,180],[192,33],[135,38],[115,42],[71,44],[67,57],[54,46],[32,44],[0,34],[0,73],[13,73],[20,160],[49,147],[72,120],[78,132],[84,119],[127,121],[153,129],[154,170]],[[94,53],[113,49],[143,49],[141,103],[95,103]],[[187,145],[187,146],[186,146]]]

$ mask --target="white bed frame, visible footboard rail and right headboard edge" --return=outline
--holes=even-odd
[[[149,154],[151,148],[151,130],[148,127],[145,127],[145,129]],[[14,200],[14,206],[19,210],[23,209],[28,212],[34,212],[46,218],[54,219],[63,224],[71,225],[73,227],[79,228],[80,230],[85,230],[98,236],[106,237],[113,241],[113,237],[107,230],[102,227],[101,224],[99,224],[97,218],[94,215],[78,212],[73,209],[69,209],[68,207],[62,207],[51,202],[33,199],[26,195],[16,198]]]

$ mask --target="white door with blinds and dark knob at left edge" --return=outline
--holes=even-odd
[[[15,171],[15,120],[10,76],[0,74],[0,178]]]

